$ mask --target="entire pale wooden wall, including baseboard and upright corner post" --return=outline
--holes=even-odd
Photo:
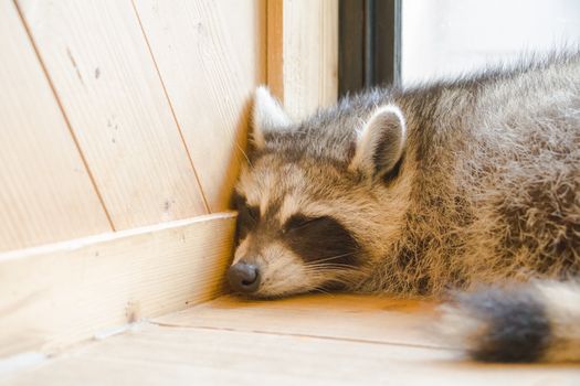
[[[337,10],[0,0],[0,358],[223,291],[253,90],[333,103]]]

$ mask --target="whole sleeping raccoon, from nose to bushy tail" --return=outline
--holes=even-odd
[[[580,361],[580,55],[303,121],[259,88],[253,130],[233,290],[462,290],[441,324],[473,358]]]

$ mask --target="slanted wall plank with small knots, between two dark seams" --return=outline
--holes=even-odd
[[[19,0],[115,228],[205,213],[130,0]]]

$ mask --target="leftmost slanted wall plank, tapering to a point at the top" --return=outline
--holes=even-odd
[[[0,2],[0,251],[110,229],[10,1]]]

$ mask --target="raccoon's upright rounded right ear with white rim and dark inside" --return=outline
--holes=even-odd
[[[361,171],[371,178],[389,173],[403,154],[405,133],[401,109],[394,105],[379,107],[358,133],[349,170]]]

